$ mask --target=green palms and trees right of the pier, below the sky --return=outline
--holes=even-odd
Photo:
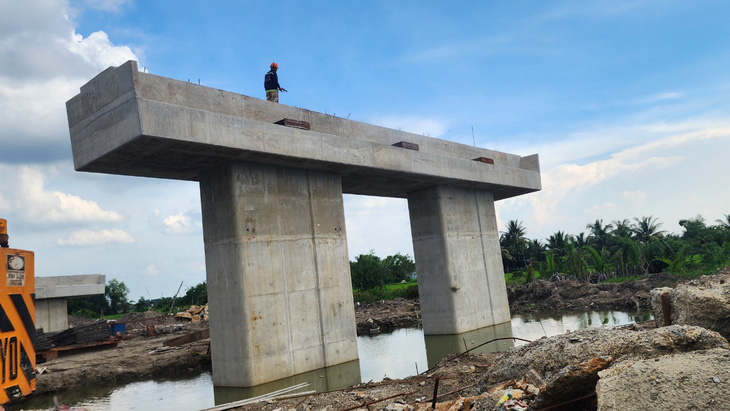
[[[653,216],[586,225],[577,235],[557,231],[545,241],[527,237],[518,220],[500,235],[505,273],[524,281],[575,278],[605,281],[648,273],[709,274],[730,264],[730,214],[708,225],[701,216],[680,220],[682,234],[661,230]]]

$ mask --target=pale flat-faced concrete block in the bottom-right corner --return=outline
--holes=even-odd
[[[601,411],[728,409],[730,385],[723,381],[730,379],[730,351],[725,348],[625,361],[598,375]]]

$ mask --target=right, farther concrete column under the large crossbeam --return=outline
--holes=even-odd
[[[408,211],[424,333],[510,321],[492,193],[435,186],[409,193]]]

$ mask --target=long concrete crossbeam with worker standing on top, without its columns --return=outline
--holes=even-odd
[[[346,194],[406,198],[438,184],[490,190],[495,200],[540,190],[537,155],[513,154],[273,104],[137,71],[110,68],[66,105],[74,166],[197,181],[223,161],[335,172]],[[284,118],[311,130],[274,124]],[[419,151],[393,147],[401,141]],[[490,158],[494,164],[475,161]]]

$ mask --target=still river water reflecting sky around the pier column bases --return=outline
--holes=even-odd
[[[326,391],[359,382],[380,381],[385,377],[403,378],[423,372],[446,355],[463,352],[484,342],[502,337],[536,340],[571,330],[619,326],[652,319],[648,312],[587,311],[514,315],[512,321],[456,336],[424,336],[418,328],[358,337],[359,361],[317,370],[286,380],[246,389],[213,386],[209,373],[180,376],[173,380],[151,380],[117,387],[94,387],[73,396],[64,394],[63,403],[96,410],[201,410],[262,395],[301,382],[312,386],[303,390]],[[505,351],[526,344],[521,340],[498,340],[475,349],[476,352]],[[35,398],[24,403],[25,410],[50,409],[52,398]],[[14,409],[14,408],[9,408]]]

